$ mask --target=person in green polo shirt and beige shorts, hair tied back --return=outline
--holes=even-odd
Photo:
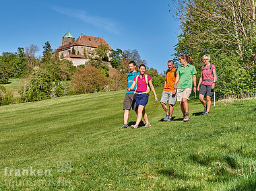
[[[178,68],[176,80],[174,83],[174,89],[177,89],[177,101],[180,102],[181,112],[183,112],[183,121],[189,121],[189,96],[192,91],[192,82],[193,82],[193,91],[197,91],[196,84],[197,78],[195,74],[195,66],[192,65],[193,60],[190,56],[182,54],[180,56],[181,67]]]

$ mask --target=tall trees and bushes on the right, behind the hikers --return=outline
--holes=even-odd
[[[255,95],[256,20],[254,0],[172,0],[170,13],[180,22],[176,54],[189,54],[197,71],[210,54],[217,67],[216,92],[224,97]]]

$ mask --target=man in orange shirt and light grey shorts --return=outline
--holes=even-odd
[[[177,90],[174,89],[173,87],[176,79],[176,72],[177,70],[174,68],[173,61],[172,60],[168,61],[168,70],[165,73],[164,90],[162,91],[162,98],[160,101],[162,108],[166,112],[166,117],[164,118],[164,121],[172,120],[173,106],[177,98],[177,94],[176,94]],[[168,107],[166,106],[168,101],[169,101],[169,111],[168,111]]]

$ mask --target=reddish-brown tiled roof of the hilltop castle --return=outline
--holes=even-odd
[[[71,43],[71,44],[66,44],[64,46],[59,46],[59,48],[57,48],[57,50],[61,50],[61,49],[65,49],[65,48],[69,48],[71,46],[75,46],[75,45],[80,45],[80,46],[89,46],[89,47],[94,47],[94,48],[98,48],[98,46],[100,44],[105,44],[109,50],[112,50],[112,48],[108,45],[108,43],[103,39],[103,37],[95,37],[95,36],[88,36],[88,35],[84,35],[81,34],[77,40],[75,40],[75,42]]]

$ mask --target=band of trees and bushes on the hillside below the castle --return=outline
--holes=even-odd
[[[51,44],[43,45],[42,56],[36,56],[38,46],[32,44],[26,48],[18,48],[17,52],[3,52],[0,56],[0,83],[8,83],[9,78],[22,79],[20,98],[13,98],[10,91],[0,85],[0,105],[17,102],[33,102],[64,95],[93,93],[96,91],[121,90],[127,87],[128,63],[133,60],[140,65],[147,64],[141,59],[137,50],[112,50],[104,45],[95,50],[84,48],[84,56],[88,59],[84,65],[74,67],[71,61],[53,51]],[[73,52],[80,54],[80,52]],[[106,62],[117,69],[110,77]],[[164,77],[156,69],[148,70],[154,86],[160,87]]]

